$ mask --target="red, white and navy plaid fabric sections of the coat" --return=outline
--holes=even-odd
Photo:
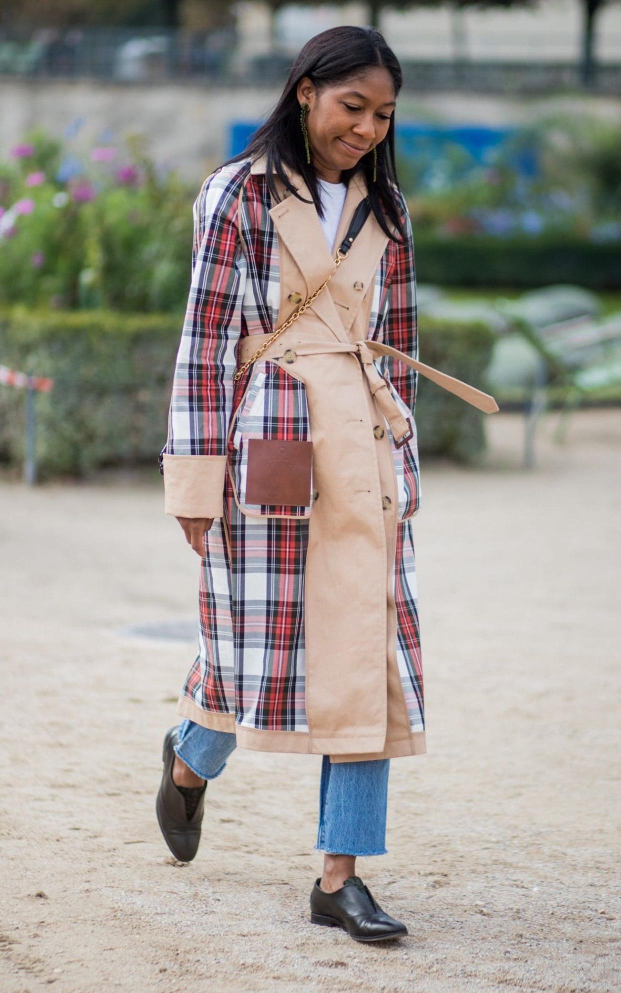
[[[278,238],[269,216],[265,177],[250,176],[249,160],[213,173],[194,206],[193,275],[175,366],[167,451],[224,455],[233,409],[243,397],[229,453],[243,506],[243,445],[251,437],[311,440],[304,387],[271,362],[256,363],[233,389],[234,348],[240,336],[269,334],[280,302]],[[411,225],[406,245],[388,241],[376,270],[368,338],[417,357],[416,287]],[[417,373],[388,356],[379,370],[412,418]],[[246,392],[247,389],[247,392]],[[244,396],[245,393],[245,396]],[[418,509],[415,436],[393,447],[399,493],[393,594],[397,662],[412,731],[424,728],[422,668],[411,521]],[[251,507],[249,509],[252,509]],[[262,508],[278,512],[278,508]],[[199,652],[182,695],[204,710],[233,713],[238,724],[267,731],[308,730],[305,697],[304,572],[306,507],[280,508],[282,517],[240,512],[233,483],[225,483],[225,517],[206,535],[199,597]]]

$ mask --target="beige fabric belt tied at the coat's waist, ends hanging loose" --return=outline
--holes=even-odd
[[[269,337],[269,335],[247,335],[245,338],[239,339],[237,362],[243,364],[243,362],[251,358]],[[313,341],[310,338],[304,337],[296,338],[295,335],[285,335],[283,339],[277,339],[273,346],[266,349],[261,355],[261,360],[265,358],[279,358],[285,362],[293,363],[297,355],[326,355],[332,352],[339,354],[350,352],[358,355],[367,375],[371,392],[378,401],[378,406],[382,413],[388,420],[392,437],[396,443],[402,443],[411,436],[411,425],[403,417],[388,389],[386,379],[380,375],[375,365],[375,359],[379,355],[389,355],[391,358],[409,365],[411,368],[416,369],[417,372],[420,372],[421,375],[426,376],[427,379],[431,379],[432,382],[441,386],[442,389],[454,393],[456,396],[461,397],[462,400],[465,400],[466,403],[472,404],[473,407],[477,407],[486,414],[494,414],[499,409],[496,400],[489,393],[484,393],[475,386],[471,386],[461,379],[456,379],[446,372],[441,372],[431,365],[425,365],[424,362],[419,362],[417,358],[410,358],[404,352],[399,352],[398,349],[392,349],[382,342],[323,342]]]

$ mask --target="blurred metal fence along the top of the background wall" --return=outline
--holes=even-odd
[[[0,30],[0,76],[95,78],[106,82],[210,80],[273,85],[295,53],[274,51],[240,60],[234,28],[213,32],[168,29]],[[584,89],[577,63],[401,60],[408,90],[468,89],[541,93]],[[589,91],[621,93],[621,63],[596,66]]]

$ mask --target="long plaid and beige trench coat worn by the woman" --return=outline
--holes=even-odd
[[[311,200],[303,179],[288,176]],[[333,270],[312,201],[278,189],[273,203],[265,159],[245,159],[212,173],[194,205],[161,468],[166,513],[215,519],[200,572],[199,650],[177,713],[259,751],[333,762],[420,755],[417,372],[361,342],[417,357],[410,218],[395,191],[406,242],[389,239],[371,213],[313,306],[234,383],[241,361]],[[366,193],[358,173],[336,244]],[[297,361],[287,364],[291,345]],[[404,418],[410,437],[398,444]],[[308,505],[244,501],[249,438],[313,442]]]

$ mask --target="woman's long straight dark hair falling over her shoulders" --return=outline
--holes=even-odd
[[[320,217],[323,208],[319,193],[319,185],[315,168],[306,162],[306,150],[302,129],[300,127],[300,104],[297,98],[297,85],[303,76],[308,76],[318,89],[324,86],[344,82],[347,79],[360,76],[364,71],[376,66],[388,70],[394,85],[394,95],[401,88],[402,74],[398,60],[386,40],[375,28],[359,28],[343,26],[329,28],[311,38],[300,51],[293,63],[289,77],[276,106],[267,120],[254,132],[248,145],[239,155],[225,165],[238,162],[250,156],[252,159],[267,156],[266,181],[267,187],[274,198],[278,199],[276,185],[273,179],[275,172],[298,200],[300,197],[287,179],[282,164],[300,174],[313,198]],[[349,185],[350,178],[359,169],[364,170],[369,190],[371,208],[378,218],[385,234],[392,240],[394,237],[388,227],[386,215],[401,236],[405,239],[405,229],[400,219],[400,211],[395,190],[398,189],[396,166],[394,162],[394,114],[390,115],[388,134],[384,141],[377,146],[378,169],[377,181],[373,181],[373,151],[363,156],[362,160],[352,169],[342,171],[342,180]],[[309,201],[304,201],[310,203]]]

